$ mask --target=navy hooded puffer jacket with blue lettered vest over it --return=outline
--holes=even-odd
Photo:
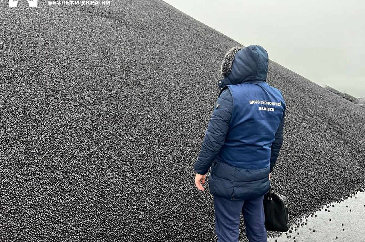
[[[220,94],[194,169],[209,178],[210,193],[230,200],[265,194],[283,142],[285,102],[266,83],[268,54],[251,45],[238,50]]]

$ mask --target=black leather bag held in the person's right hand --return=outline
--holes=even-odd
[[[266,230],[286,232],[290,228],[288,200],[285,196],[273,193],[271,186],[264,195]]]

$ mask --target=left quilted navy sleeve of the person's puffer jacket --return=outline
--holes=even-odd
[[[194,170],[201,175],[207,174],[220,148],[224,144],[232,116],[233,98],[230,90],[224,89],[215,105],[209,121],[200,153],[196,159]]]

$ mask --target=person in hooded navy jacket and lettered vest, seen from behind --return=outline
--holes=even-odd
[[[204,190],[211,168],[218,242],[238,242],[241,213],[250,242],[267,242],[263,199],[283,143],[285,102],[266,83],[269,58],[260,45],[233,47],[224,57],[220,89],[194,170]]]

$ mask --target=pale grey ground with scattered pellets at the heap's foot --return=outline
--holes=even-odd
[[[282,233],[280,237],[269,238],[268,242],[365,241],[364,191],[341,203],[324,205],[308,218],[301,218],[301,221],[298,219],[304,226],[292,226],[291,230]]]

